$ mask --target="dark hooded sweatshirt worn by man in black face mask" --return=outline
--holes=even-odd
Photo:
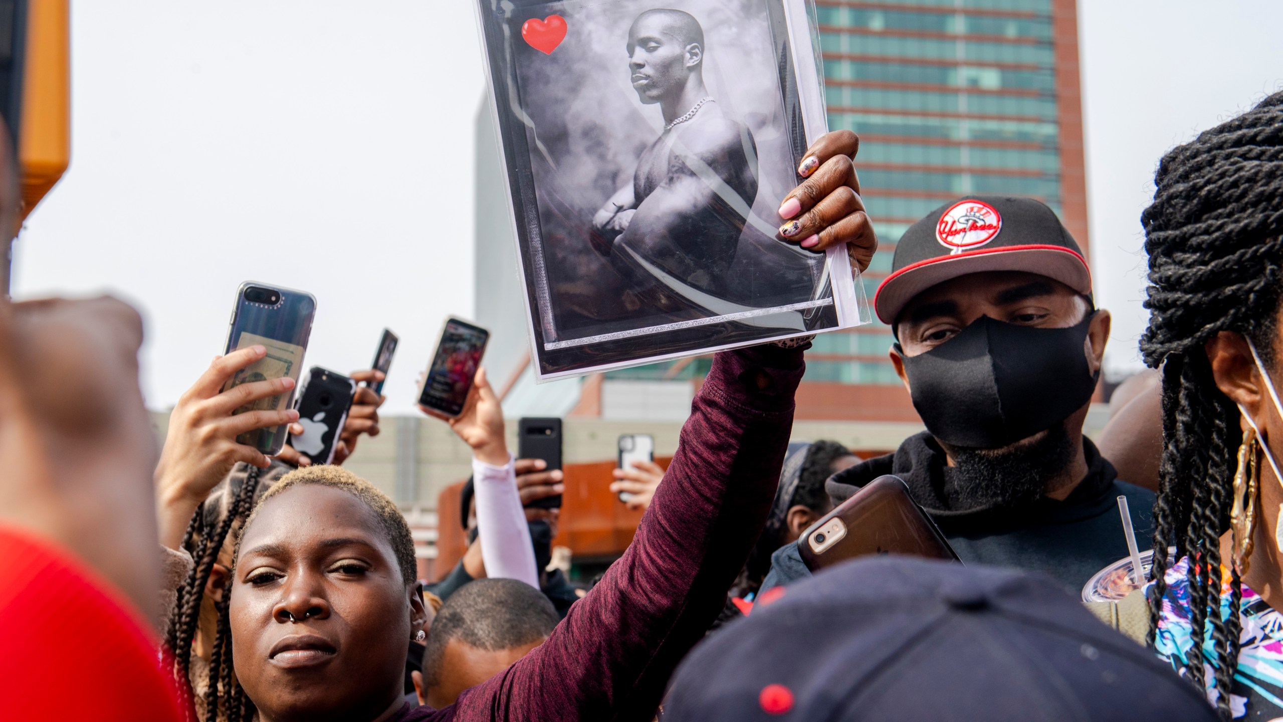
[[[944,451],[926,432],[905,439],[894,453],[834,474],[825,488],[837,505],[878,477],[894,474],[965,564],[1046,572],[1076,596],[1096,572],[1128,555],[1119,496],[1128,497],[1142,550],[1150,549],[1153,536],[1153,492],[1119,480],[1087,437],[1083,452],[1087,475],[1067,497],[1044,496],[1011,509],[974,507],[957,498]],[[784,545],[771,556],[771,572],[758,594],[810,576],[797,542]]]

